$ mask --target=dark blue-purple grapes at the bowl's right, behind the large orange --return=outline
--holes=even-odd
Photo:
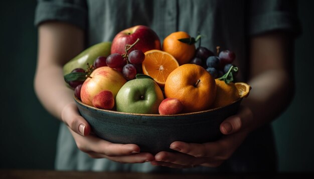
[[[203,66],[214,78],[218,78],[227,73],[232,65],[235,66],[232,63],[236,56],[235,53],[230,50],[222,50],[219,52],[219,47],[217,54],[218,55],[215,55],[213,51],[204,46],[199,46],[196,49],[195,57],[190,63]]]

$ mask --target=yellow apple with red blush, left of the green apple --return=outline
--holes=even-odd
[[[125,82],[121,72],[108,66],[98,67],[85,79],[81,87],[81,100],[92,106],[94,96],[102,90],[110,90],[115,98]]]

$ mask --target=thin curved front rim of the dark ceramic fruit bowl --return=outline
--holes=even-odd
[[[197,112],[187,112],[187,113],[178,113],[178,114],[145,114],[145,113],[132,113],[132,112],[120,112],[120,111],[116,111],[116,110],[108,110],[108,109],[100,109],[100,108],[96,108],[94,106],[85,104],[84,102],[82,102],[78,97],[76,97],[74,95],[74,100],[75,102],[79,103],[80,105],[83,105],[87,108],[91,108],[94,110],[99,110],[99,111],[103,111],[103,112],[112,112],[112,113],[116,113],[116,114],[125,114],[125,115],[141,115],[141,116],[183,116],[183,115],[193,115],[193,114],[201,114],[201,113],[205,113],[205,112],[210,112],[210,111],[216,111],[219,110],[221,108],[227,107],[229,105],[232,105],[240,100],[242,100],[243,97],[238,98],[237,100],[233,101],[230,104],[224,105],[224,106],[220,106],[220,107],[216,107],[216,108],[211,108],[211,109],[207,109],[207,110],[202,110],[202,111],[197,111]]]

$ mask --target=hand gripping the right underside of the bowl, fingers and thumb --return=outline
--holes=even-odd
[[[220,131],[225,135],[219,140],[207,143],[174,141],[170,148],[180,152],[161,151],[150,163],[174,168],[197,165],[217,167],[227,160],[246,138],[252,120],[252,111],[248,107],[241,107],[236,115],[226,118],[220,124]]]

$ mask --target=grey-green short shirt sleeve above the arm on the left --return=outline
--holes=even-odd
[[[85,0],[38,0],[34,24],[38,26],[48,20],[59,20],[86,29],[87,15]]]

